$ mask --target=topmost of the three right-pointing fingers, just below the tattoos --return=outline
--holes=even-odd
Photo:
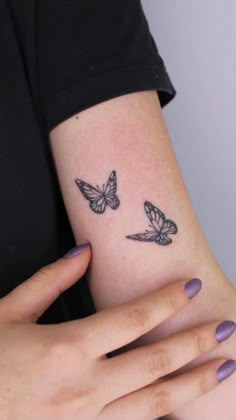
[[[95,357],[102,356],[132,342],[183,309],[201,286],[199,279],[178,281],[80,320],[88,351]],[[75,328],[73,321],[71,326]]]

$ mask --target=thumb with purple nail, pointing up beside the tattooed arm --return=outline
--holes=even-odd
[[[45,265],[0,300],[1,321],[37,319],[85,273],[91,257],[90,245],[76,246],[59,260]]]

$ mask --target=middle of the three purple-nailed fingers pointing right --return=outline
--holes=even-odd
[[[102,387],[107,389],[105,403],[143,388],[214,350],[235,330],[233,321],[214,322],[102,360]]]

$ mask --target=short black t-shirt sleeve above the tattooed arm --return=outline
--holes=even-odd
[[[176,94],[140,0],[38,0],[37,50],[48,132],[126,93],[154,89],[162,107]]]

